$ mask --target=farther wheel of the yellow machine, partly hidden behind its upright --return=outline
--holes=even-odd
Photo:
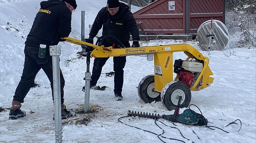
[[[139,83],[138,86],[138,95],[142,101],[145,103],[151,103],[153,101],[160,101],[161,96],[160,93],[154,92],[155,88],[155,79],[154,75],[148,75],[144,78]]]

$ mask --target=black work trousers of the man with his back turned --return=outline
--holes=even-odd
[[[24,102],[24,98],[27,95],[28,91],[34,85],[34,80],[36,74],[42,68],[47,75],[50,83],[51,83],[51,91],[53,96],[53,61],[52,57],[49,54],[49,49],[46,51],[45,58],[38,57],[39,47],[28,46],[25,45],[24,53],[25,53],[25,62],[24,69],[21,76],[21,81],[15,90],[15,94],[13,96],[13,100],[19,101],[21,103]],[[60,95],[61,95],[61,104],[64,103],[64,88],[65,80],[60,70]],[[54,99],[54,98],[53,98]]]

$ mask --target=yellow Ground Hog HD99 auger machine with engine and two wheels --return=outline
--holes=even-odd
[[[187,107],[191,100],[191,91],[210,86],[214,79],[210,77],[213,73],[208,66],[209,59],[189,44],[113,48],[69,37],[62,39],[91,49],[88,53],[90,57],[154,55],[154,75],[148,75],[140,81],[138,95],[145,103],[161,101],[168,110],[176,108],[179,96],[182,97],[180,107]],[[176,59],[173,65],[174,52],[184,52],[187,58]],[[173,72],[177,74],[174,79]]]

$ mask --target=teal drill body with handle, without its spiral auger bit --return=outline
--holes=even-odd
[[[183,111],[182,114],[179,114],[179,106],[181,105],[181,99],[182,97],[179,96],[178,105],[173,115],[162,115],[161,118],[168,121],[186,124],[186,125],[194,125],[194,126],[207,125],[208,120],[201,114],[196,113],[191,109],[186,109]]]

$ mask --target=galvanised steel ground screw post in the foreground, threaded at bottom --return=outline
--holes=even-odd
[[[61,46],[50,46],[50,56],[53,58],[53,91],[54,91],[54,121],[55,121],[55,142],[62,142],[61,128],[61,102],[60,102],[60,62]]]

